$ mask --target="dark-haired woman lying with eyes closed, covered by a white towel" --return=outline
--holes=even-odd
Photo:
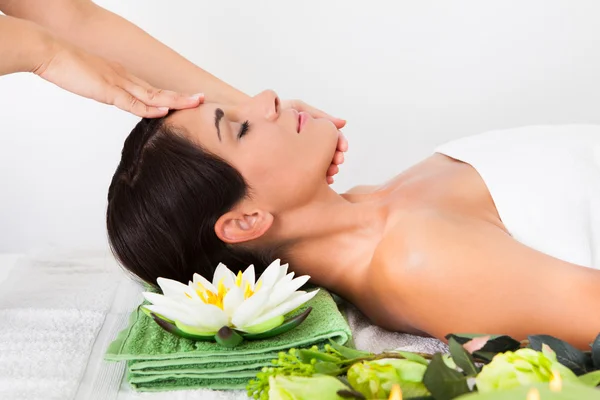
[[[108,194],[116,256],[152,284],[280,257],[374,323],[438,338],[545,333],[585,348],[600,331],[599,127],[459,140],[343,194],[325,179],[336,142],[330,121],[271,91],[142,120]]]

